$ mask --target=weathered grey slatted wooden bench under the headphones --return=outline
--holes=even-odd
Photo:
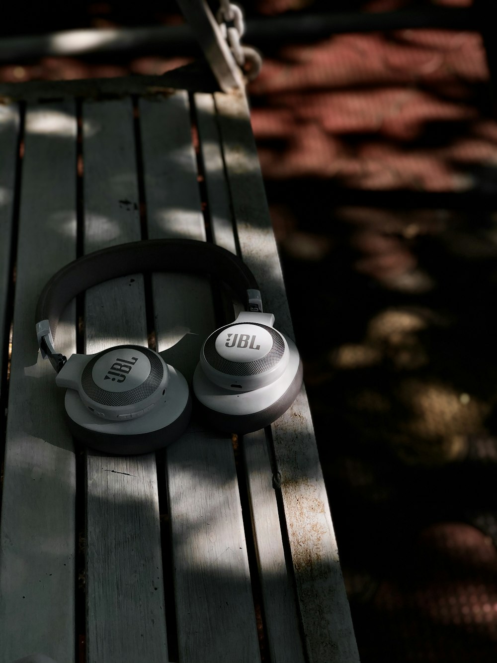
[[[166,452],[111,457],[74,446],[36,345],[55,271],[145,237],[239,253],[293,335],[247,99],[192,91],[209,81],[0,88],[1,663],[359,660],[304,389],[267,430],[194,421]],[[68,306],[58,343],[152,343],[190,379],[233,319],[217,293],[188,274],[115,279]]]

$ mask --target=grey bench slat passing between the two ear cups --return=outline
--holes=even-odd
[[[140,119],[150,236],[205,239],[186,95],[140,102]],[[190,379],[215,328],[209,286],[164,275],[154,305],[158,349]],[[190,424],[166,476],[180,660],[260,660],[231,438]]]

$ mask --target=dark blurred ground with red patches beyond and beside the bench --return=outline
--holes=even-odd
[[[23,35],[182,23],[172,2],[31,4],[1,23],[3,82],[162,74],[197,54],[162,38],[26,58]],[[490,2],[242,4],[264,57],[252,126],[361,660],[493,663]]]

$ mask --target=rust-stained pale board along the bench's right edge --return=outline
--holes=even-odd
[[[244,93],[215,94],[241,255],[265,310],[293,337],[276,242]],[[272,425],[274,454],[311,662],[359,660],[305,390]]]

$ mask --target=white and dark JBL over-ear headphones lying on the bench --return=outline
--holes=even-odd
[[[186,268],[185,265],[188,265]],[[294,402],[302,386],[302,361],[291,339],[262,312],[258,284],[247,265],[217,245],[194,239],[154,239],[89,253],[58,271],[36,307],[36,335],[43,358],[66,388],[68,424],[76,440],[112,454],[148,453],[168,446],[188,426],[190,389],[160,353],[118,345],[66,359],[54,345],[66,304],[110,278],[136,272],[202,272],[231,286],[247,311],[203,343],[193,375],[201,418],[225,432],[268,426]]]

